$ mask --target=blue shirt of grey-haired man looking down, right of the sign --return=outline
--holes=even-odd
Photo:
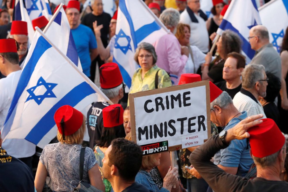
[[[229,123],[224,127],[224,130],[233,128],[242,119],[247,117],[247,112],[242,112],[242,115],[235,117],[229,121]],[[224,167],[238,167],[237,174],[240,176],[245,176],[249,171],[253,159],[250,156],[250,145],[247,139],[243,140],[232,140],[230,145],[221,149],[215,154],[214,164]]]

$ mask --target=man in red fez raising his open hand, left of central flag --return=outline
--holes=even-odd
[[[112,62],[113,61],[113,49],[115,45],[115,31],[116,31],[116,23],[117,23],[117,16],[118,11],[115,11],[111,21],[110,21],[110,35],[113,34],[113,37],[111,37],[108,46],[105,48],[101,39],[101,29],[103,28],[103,24],[97,26],[97,21],[93,22],[94,27],[94,33],[97,41],[97,49],[99,52],[99,56],[101,60],[105,60],[106,62]]]

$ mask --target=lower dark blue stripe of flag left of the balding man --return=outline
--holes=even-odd
[[[244,51],[245,54],[246,54],[250,59],[252,59],[252,58],[254,57],[255,51],[254,51],[253,49],[251,49],[250,43],[246,40],[245,37],[243,37],[243,36],[241,35],[241,33],[239,33],[239,31],[238,31],[236,28],[234,28],[234,27],[232,26],[232,24],[231,24],[229,21],[223,19],[223,20],[222,20],[222,23],[221,23],[221,25],[220,25],[220,28],[221,28],[222,30],[230,29],[231,31],[234,31],[235,33],[237,33],[237,34],[239,35],[240,39],[242,40],[242,51]]]

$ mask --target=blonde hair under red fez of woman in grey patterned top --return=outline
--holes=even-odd
[[[57,131],[57,139],[60,143],[66,143],[66,144],[81,144],[84,138],[85,134],[85,128],[86,128],[86,117],[83,115],[83,122],[81,127],[72,135],[65,135],[65,140],[63,140],[62,134]]]

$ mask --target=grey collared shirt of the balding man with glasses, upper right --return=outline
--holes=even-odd
[[[272,73],[281,79],[281,58],[271,43],[258,49],[250,64],[260,64],[266,73]]]

